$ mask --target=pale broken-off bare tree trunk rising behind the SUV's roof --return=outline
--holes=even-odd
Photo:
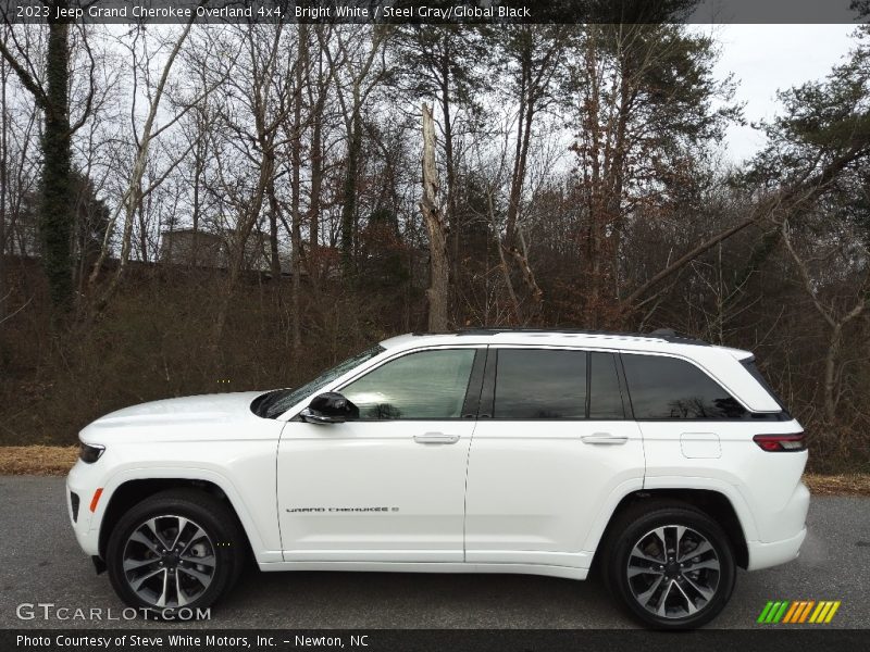
[[[435,165],[435,124],[432,111],[423,103],[423,200],[420,210],[428,231],[430,287],[428,329],[447,330],[447,299],[449,262],[447,255],[447,228],[437,204],[438,170]]]

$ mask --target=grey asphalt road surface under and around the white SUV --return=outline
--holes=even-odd
[[[815,498],[809,536],[791,564],[737,575],[710,625],[750,628],[768,600],[841,600],[828,627],[870,627],[870,499]],[[22,620],[22,603],[111,610],[123,604],[94,573],[67,522],[62,478],[0,476],[0,628],[82,627],[88,620]],[[70,612],[72,613],[72,612]],[[114,620],[111,627],[159,624]],[[252,566],[190,627],[626,628],[634,623],[595,580],[529,575],[260,573]]]

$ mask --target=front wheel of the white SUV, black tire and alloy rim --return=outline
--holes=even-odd
[[[161,536],[151,536],[154,531]],[[150,539],[147,546],[141,535]],[[173,550],[160,543],[173,536],[177,541],[174,556]],[[115,524],[105,552],[117,595],[147,617],[161,619],[197,617],[232,588],[247,556],[235,514],[219,499],[196,489],[161,491],[136,504]],[[141,580],[149,574],[156,575]],[[139,584],[138,592],[134,584]],[[163,591],[163,604],[159,591]]]

